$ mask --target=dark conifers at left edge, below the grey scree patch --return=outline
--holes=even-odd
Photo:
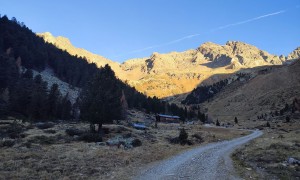
[[[29,120],[70,119],[71,102],[62,96],[57,84],[48,90],[41,75],[31,69],[20,72],[17,60],[0,55],[0,115],[13,115]]]

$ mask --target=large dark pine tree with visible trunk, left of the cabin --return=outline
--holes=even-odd
[[[119,84],[114,72],[106,65],[95,74],[81,93],[81,117],[91,124],[98,124],[98,131],[101,131],[102,124],[121,118],[122,92]]]

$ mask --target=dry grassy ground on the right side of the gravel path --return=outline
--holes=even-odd
[[[300,167],[287,163],[290,157],[300,159],[299,128],[299,121],[266,128],[233,154],[236,169],[245,179],[299,179]]]

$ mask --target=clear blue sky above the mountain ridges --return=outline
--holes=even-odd
[[[300,0],[0,0],[0,14],[114,61],[242,41],[300,46]]]

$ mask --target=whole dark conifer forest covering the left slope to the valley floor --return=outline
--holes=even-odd
[[[31,69],[41,72],[45,68],[51,68],[55,76],[82,89],[75,105],[60,94],[58,85],[47,89],[47,82],[41,76],[33,76]],[[126,102],[121,101],[122,97]],[[91,122],[122,118],[124,108],[147,113],[170,112],[184,118],[183,108],[136,91],[117,79],[109,66],[98,68],[85,58],[72,56],[45,42],[16,18],[0,16],[0,115],[31,120],[71,119],[72,110],[77,107],[81,119]]]

